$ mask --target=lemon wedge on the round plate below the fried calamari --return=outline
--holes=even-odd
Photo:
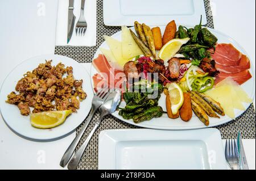
[[[31,125],[36,128],[53,128],[64,123],[71,110],[31,113]]]

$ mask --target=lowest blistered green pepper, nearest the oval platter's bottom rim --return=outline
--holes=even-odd
[[[160,106],[150,107],[143,113],[133,116],[134,123],[141,123],[142,121],[151,120],[154,117],[161,117],[163,109]]]

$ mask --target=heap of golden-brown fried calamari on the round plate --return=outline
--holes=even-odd
[[[46,61],[28,71],[16,84],[15,90],[19,94],[13,91],[7,95],[6,102],[18,106],[22,115],[29,115],[30,107],[34,108],[33,113],[53,110],[76,112],[80,101],[86,98],[82,80],[73,77],[73,68],[65,68],[61,63],[52,66],[51,62]]]

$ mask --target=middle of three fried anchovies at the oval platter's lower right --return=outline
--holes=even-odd
[[[208,116],[220,118],[220,116],[218,116],[217,113],[213,111],[212,107],[210,107],[210,105],[194,91],[191,92],[191,99],[199,104],[199,106],[207,113]]]

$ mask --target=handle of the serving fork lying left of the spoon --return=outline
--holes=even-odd
[[[60,166],[61,167],[65,167],[68,164],[69,159],[71,159],[77,144],[79,143],[79,141],[81,140],[82,134],[84,134],[86,128],[88,127],[90,120],[92,119],[94,113],[95,113],[96,109],[94,108],[94,106],[92,106],[90,113],[85,121],[85,124],[82,126],[81,131],[77,134],[77,136],[75,137],[75,139],[72,141],[72,143],[68,146],[68,149],[65,151],[63,157],[61,158],[60,161]]]

